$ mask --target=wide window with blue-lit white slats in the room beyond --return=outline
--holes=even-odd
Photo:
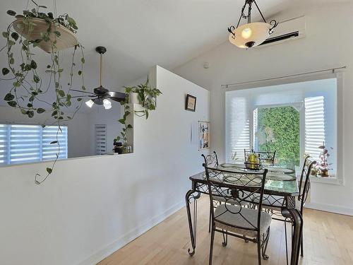
[[[67,158],[67,126],[0,124],[0,165]],[[54,141],[59,142],[59,146]]]

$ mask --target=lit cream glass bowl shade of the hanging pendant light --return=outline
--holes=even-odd
[[[261,45],[269,36],[270,28],[273,26],[268,23],[254,22],[241,25],[233,34],[229,34],[229,42],[239,48],[251,48]]]

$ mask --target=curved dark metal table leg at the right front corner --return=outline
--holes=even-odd
[[[303,230],[303,218],[301,213],[297,209],[287,209],[292,216],[293,222],[293,236],[292,236],[292,254],[291,254],[291,265],[299,264],[299,252],[301,242],[301,232]]]

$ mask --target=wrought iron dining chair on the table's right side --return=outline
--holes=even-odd
[[[303,216],[304,206],[306,199],[310,192],[310,173],[313,166],[316,165],[316,161],[310,160],[310,155],[307,155],[304,159],[303,167],[301,168],[301,175],[299,178],[299,196],[296,199],[296,208]],[[253,196],[253,205],[258,204],[259,195]],[[288,264],[288,245],[287,245],[287,223],[292,223],[290,213],[285,209],[285,198],[282,196],[264,195],[263,196],[263,209],[264,211],[271,213],[273,220],[280,220],[285,222],[285,244]],[[277,217],[276,217],[277,216]],[[284,218],[280,218],[284,217]],[[304,245],[303,245],[303,232],[301,234],[301,257],[304,256]]]

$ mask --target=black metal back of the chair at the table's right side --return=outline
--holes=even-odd
[[[313,166],[316,165],[316,161],[310,160],[310,155],[307,155],[304,159],[303,168],[301,170],[300,182],[299,182],[299,196],[300,211],[303,213],[304,204],[308,198],[310,192],[310,174]]]

